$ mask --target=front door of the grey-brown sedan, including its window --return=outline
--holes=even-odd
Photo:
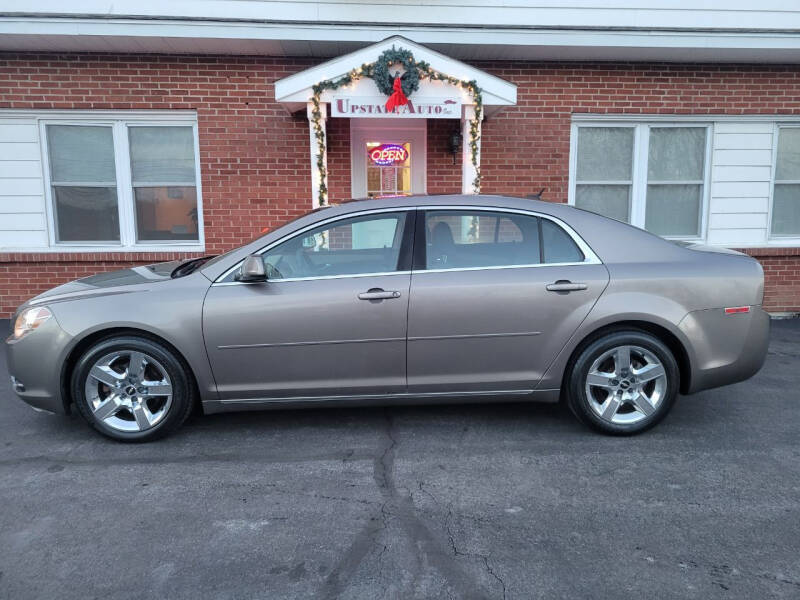
[[[203,330],[220,399],[405,392],[408,214],[310,228],[262,252],[266,282],[213,284]]]

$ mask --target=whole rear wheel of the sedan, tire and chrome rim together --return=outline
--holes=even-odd
[[[567,402],[587,425],[617,435],[649,429],[669,412],[680,371],[669,348],[644,331],[615,331],[578,354]]]

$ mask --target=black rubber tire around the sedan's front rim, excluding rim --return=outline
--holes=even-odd
[[[150,429],[120,431],[95,417],[86,398],[85,387],[89,371],[103,356],[117,351],[137,351],[154,358],[169,375],[172,384],[171,404],[166,415]],[[70,389],[81,416],[101,434],[120,442],[149,442],[164,437],[180,427],[192,411],[195,400],[193,379],[188,365],[165,345],[156,340],[135,335],[110,337],[91,346],[78,360],[72,371]]]

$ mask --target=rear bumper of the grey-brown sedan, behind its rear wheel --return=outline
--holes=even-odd
[[[769,315],[760,306],[730,315],[722,308],[690,312],[678,327],[693,354],[690,394],[749,379],[764,364]]]

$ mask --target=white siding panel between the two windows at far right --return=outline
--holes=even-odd
[[[714,126],[709,244],[766,244],[773,163],[771,121],[725,121]]]

